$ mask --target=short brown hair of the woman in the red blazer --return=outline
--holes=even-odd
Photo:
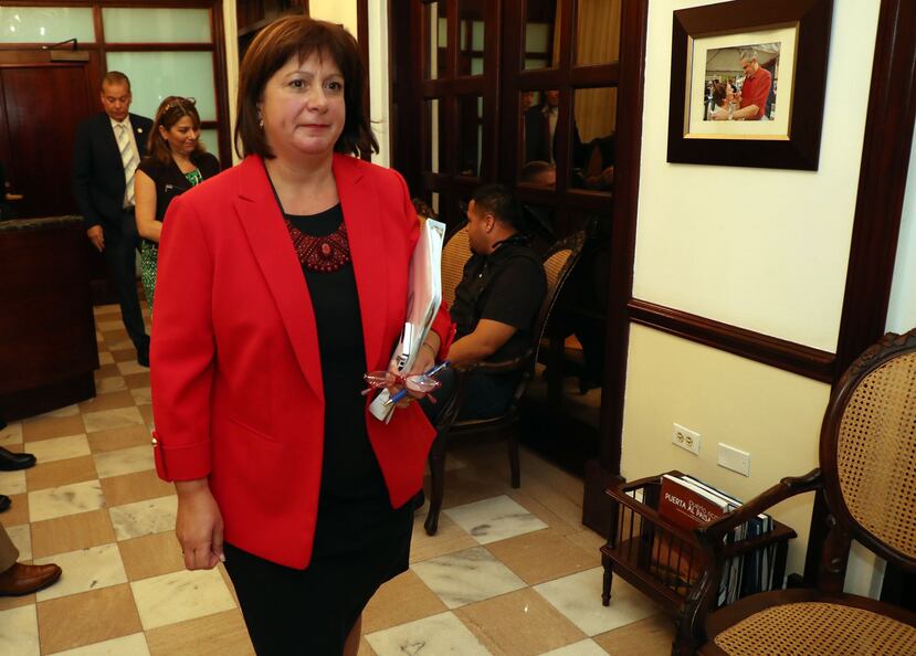
[[[366,71],[356,39],[334,23],[304,15],[288,15],[264,28],[242,59],[235,124],[235,149],[241,156],[260,155],[265,159],[274,157],[260,126],[257,103],[264,95],[267,81],[291,57],[298,56],[302,62],[313,53],[330,56],[344,75],[347,114],[344,130],[337,138],[334,150],[357,156],[379,151],[362,103]]]

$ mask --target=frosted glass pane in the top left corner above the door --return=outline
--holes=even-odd
[[[95,41],[91,7],[0,7],[0,43]]]

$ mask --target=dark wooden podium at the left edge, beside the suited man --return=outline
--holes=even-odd
[[[78,216],[0,221],[0,412],[8,420],[95,395],[90,254]]]

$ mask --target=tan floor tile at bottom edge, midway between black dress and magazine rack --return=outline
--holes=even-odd
[[[464,606],[454,613],[494,654],[535,656],[586,637],[530,589]]]

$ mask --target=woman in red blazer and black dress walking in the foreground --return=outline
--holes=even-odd
[[[242,62],[245,160],[164,223],[151,384],[159,475],[188,569],[225,561],[255,650],[356,654],[360,614],[408,567],[434,437],[414,403],[367,413],[407,313],[419,223],[378,149],[356,41],[281,19]],[[413,371],[448,350],[440,310]]]

